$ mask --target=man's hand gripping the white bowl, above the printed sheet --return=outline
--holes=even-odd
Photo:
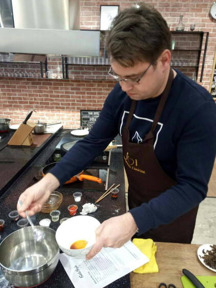
[[[86,259],[93,258],[102,247],[120,248],[131,239],[136,230],[137,224],[129,212],[104,221],[95,231],[96,243]]]

